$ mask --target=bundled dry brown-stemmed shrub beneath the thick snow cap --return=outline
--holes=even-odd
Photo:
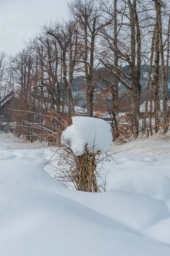
[[[101,154],[100,151],[92,153],[85,146],[83,154],[77,156],[71,148],[65,145],[59,147],[54,154],[57,157],[52,157],[45,165],[53,166],[54,162],[57,163],[57,167],[53,166],[56,172],[55,179],[80,191],[100,192],[100,188],[105,191],[105,179],[99,175],[99,171],[102,168],[103,160],[112,157],[112,154]],[[99,171],[97,171],[98,164]],[[98,181],[101,183],[98,184]]]

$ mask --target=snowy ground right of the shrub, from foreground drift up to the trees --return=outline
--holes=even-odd
[[[156,199],[170,197],[170,142],[156,135],[150,139],[135,140],[125,145],[114,145],[116,162],[104,167],[109,189],[150,196]]]

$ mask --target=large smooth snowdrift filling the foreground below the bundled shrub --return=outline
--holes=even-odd
[[[156,199],[70,190],[39,163],[16,159],[1,161],[0,195],[3,256],[170,255],[167,244],[142,236],[170,218]]]

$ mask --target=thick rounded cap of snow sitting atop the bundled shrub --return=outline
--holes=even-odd
[[[111,126],[102,119],[73,116],[73,124],[62,132],[62,143],[81,155],[85,145],[89,151],[106,153],[112,143]]]

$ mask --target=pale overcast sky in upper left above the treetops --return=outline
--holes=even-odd
[[[0,0],[0,52],[15,54],[43,23],[67,17],[66,0]]]

